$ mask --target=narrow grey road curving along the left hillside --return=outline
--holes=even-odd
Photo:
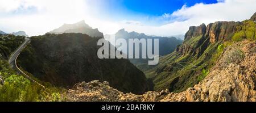
[[[26,45],[27,45],[28,43],[30,43],[30,41],[31,41],[31,40],[26,37],[26,38],[25,38],[25,41],[24,41],[24,42],[19,46],[19,48],[16,49],[16,51],[11,55],[11,57],[9,58],[9,61],[8,61],[8,62],[9,62],[9,64],[11,65],[11,68],[17,70],[19,74],[20,74],[20,73],[23,74],[23,76],[26,77],[26,78],[28,78],[28,79],[30,79],[30,81],[32,81],[32,82],[38,84],[39,86],[42,86],[43,89],[46,89],[46,87],[44,87],[42,84],[36,82],[35,79],[33,79],[33,78],[31,78],[30,76],[28,76],[26,73],[24,73],[22,70],[20,70],[20,69],[18,68],[18,66],[16,65],[16,60],[17,60],[17,58],[18,58],[20,52],[22,52],[22,50],[26,47]]]

